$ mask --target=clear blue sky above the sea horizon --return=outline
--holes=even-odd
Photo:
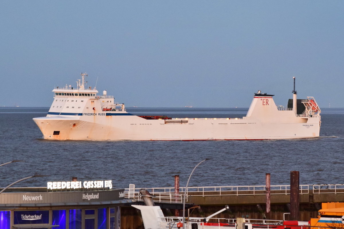
[[[50,106],[81,72],[139,107],[344,107],[344,1],[0,2],[0,106]]]

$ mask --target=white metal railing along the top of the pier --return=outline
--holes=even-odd
[[[126,198],[135,198],[137,201],[143,201],[139,191],[141,188],[135,188],[131,185],[125,189]],[[154,202],[160,203],[182,203],[185,187],[179,188],[179,194],[174,193],[174,187],[155,187],[144,188],[153,196]],[[271,195],[290,194],[290,185],[271,185]],[[300,194],[337,194],[344,193],[344,184],[307,184],[300,185]],[[188,187],[187,197],[192,196],[239,196],[239,195],[266,195],[265,185],[249,186],[200,186]]]

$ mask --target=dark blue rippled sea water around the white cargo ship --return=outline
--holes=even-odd
[[[49,181],[112,180],[113,188],[180,186],[195,165],[189,186],[341,184],[344,177],[344,108],[323,108],[320,138],[261,141],[52,141],[44,140],[32,118],[49,108],[0,108],[0,187],[35,173],[15,187],[41,187]],[[128,108],[136,115],[220,118],[242,117],[247,108]]]

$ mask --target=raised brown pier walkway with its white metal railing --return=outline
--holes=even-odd
[[[141,188],[125,189],[127,198],[143,201]],[[156,203],[183,203],[185,187],[180,187],[179,194],[174,187],[144,188],[153,196]],[[290,185],[271,185],[271,204],[290,203]],[[211,186],[188,187],[186,203],[198,205],[251,205],[266,202],[266,186]],[[300,185],[300,203],[343,202],[344,184]]]

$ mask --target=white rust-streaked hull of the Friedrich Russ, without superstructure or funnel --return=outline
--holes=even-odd
[[[126,113],[128,114],[128,113]],[[319,137],[320,117],[147,120],[135,115],[34,118],[49,140],[265,140]],[[178,123],[180,122],[180,123]],[[55,133],[55,134],[54,134]]]

